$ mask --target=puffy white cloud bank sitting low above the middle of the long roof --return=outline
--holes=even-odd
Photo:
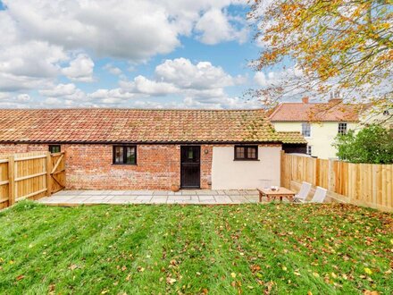
[[[212,63],[192,63],[186,58],[166,60],[155,68],[153,79],[138,75],[121,80],[118,89],[99,89],[89,94],[96,105],[133,105],[151,108],[254,108],[259,103],[229,97],[225,88],[244,82]],[[163,97],[171,97],[165,101]],[[152,99],[160,98],[160,101]],[[173,98],[176,98],[174,102]],[[143,99],[143,100],[141,100]]]

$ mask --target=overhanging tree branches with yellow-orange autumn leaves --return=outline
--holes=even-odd
[[[253,2],[248,18],[263,44],[255,70],[289,59],[302,72],[256,96],[274,102],[288,92],[328,97],[335,89],[350,100],[393,101],[393,0]]]

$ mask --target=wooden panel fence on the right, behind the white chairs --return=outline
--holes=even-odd
[[[281,155],[281,186],[302,181],[328,190],[340,202],[393,211],[393,164],[351,164],[307,156]]]

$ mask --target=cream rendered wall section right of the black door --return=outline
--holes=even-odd
[[[212,189],[255,190],[280,185],[281,147],[258,147],[259,161],[234,161],[234,147],[213,147]]]

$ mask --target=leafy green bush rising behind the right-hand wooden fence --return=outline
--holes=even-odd
[[[333,146],[340,159],[351,163],[393,164],[393,130],[377,124],[338,135]]]

